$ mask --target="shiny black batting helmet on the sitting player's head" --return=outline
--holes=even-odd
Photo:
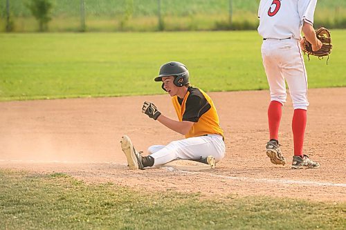
[[[174,76],[174,85],[181,87],[189,83],[189,70],[188,68],[178,62],[170,61],[161,66],[158,77],[155,77],[155,82],[161,82],[162,77]]]

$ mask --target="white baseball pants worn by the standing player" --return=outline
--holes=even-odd
[[[307,70],[298,39],[266,39],[261,52],[271,101],[286,102],[286,79],[293,108],[307,110]]]

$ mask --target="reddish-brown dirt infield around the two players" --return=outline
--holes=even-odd
[[[293,108],[284,106],[280,144],[288,165],[271,164],[268,91],[209,93],[226,134],[226,157],[215,170],[170,168],[129,171],[122,135],[138,150],[183,138],[141,113],[145,100],[175,119],[168,95],[0,102],[0,168],[64,172],[87,182],[113,182],[152,191],[210,196],[273,195],[346,201],[346,88],[309,90],[304,153],[320,169],[291,170]]]

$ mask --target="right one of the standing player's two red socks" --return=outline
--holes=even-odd
[[[307,127],[307,111],[295,109],[292,119],[294,155],[303,156],[302,148],[304,144],[305,128]]]

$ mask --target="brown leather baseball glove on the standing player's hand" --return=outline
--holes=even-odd
[[[309,55],[317,56],[320,59],[322,59],[325,56],[328,56],[328,59],[329,59],[329,54],[331,53],[331,48],[333,47],[331,45],[331,37],[330,37],[329,30],[327,30],[324,27],[320,27],[317,30],[315,30],[315,32],[316,32],[317,39],[322,42],[322,47],[319,50],[313,51],[312,46],[309,43],[309,41],[307,41],[307,39],[305,37],[303,37],[303,39],[304,39],[304,49],[303,49],[304,54],[307,54],[308,57],[309,57]],[[309,60],[310,60],[310,57],[309,57]]]

